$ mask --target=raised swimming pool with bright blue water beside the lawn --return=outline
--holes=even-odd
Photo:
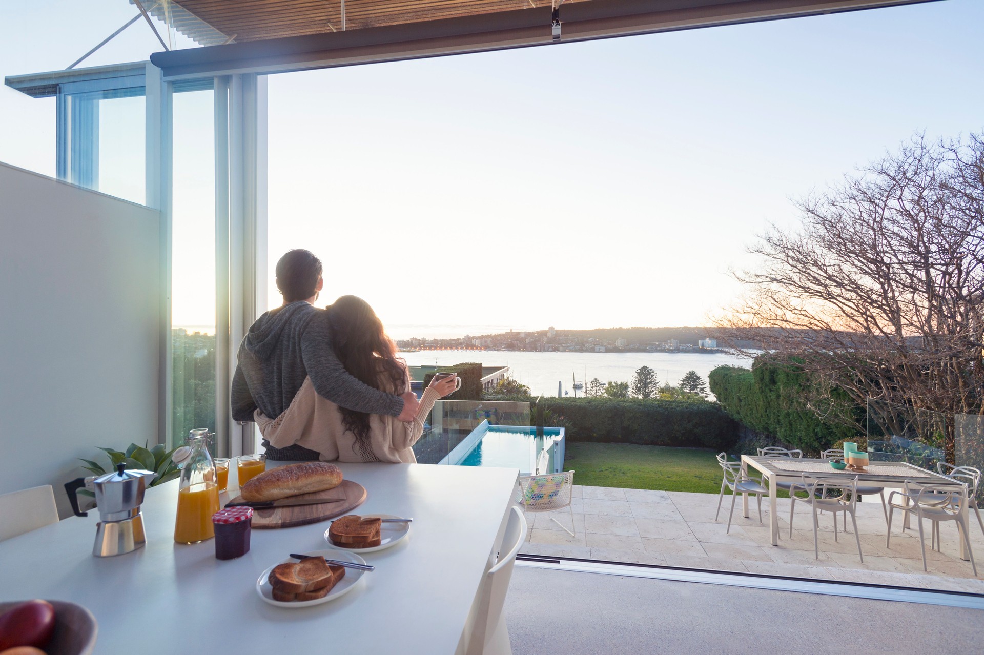
[[[523,475],[564,470],[564,429],[489,425],[488,421],[464,438],[442,464],[518,468]]]

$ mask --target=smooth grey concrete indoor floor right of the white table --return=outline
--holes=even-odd
[[[902,655],[984,643],[979,610],[532,566],[515,568],[505,613],[515,655]]]

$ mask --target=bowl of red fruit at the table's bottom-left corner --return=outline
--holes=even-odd
[[[0,603],[0,655],[89,655],[92,612],[65,601]]]

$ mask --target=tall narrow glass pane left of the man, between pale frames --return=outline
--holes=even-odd
[[[172,443],[215,431],[215,138],[212,90],[174,94]]]

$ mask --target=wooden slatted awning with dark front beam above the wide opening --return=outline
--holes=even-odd
[[[151,61],[171,80],[295,71],[933,1],[160,0],[175,29],[230,42]]]

